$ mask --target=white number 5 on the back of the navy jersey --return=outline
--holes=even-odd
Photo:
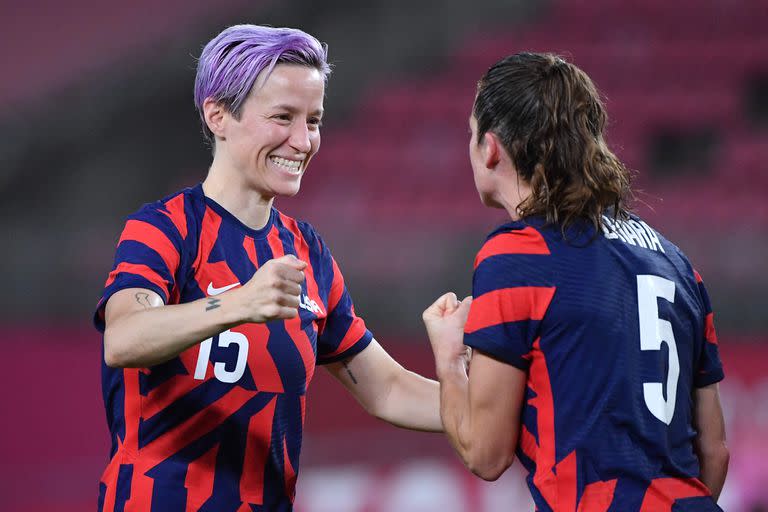
[[[675,283],[653,275],[637,276],[637,307],[640,320],[640,350],[661,350],[661,344],[669,348],[667,373],[667,399],[661,382],[644,382],[643,397],[648,410],[667,425],[675,414],[677,380],[680,377],[680,359],[672,332],[672,324],[659,318],[658,299],[675,302]]]

